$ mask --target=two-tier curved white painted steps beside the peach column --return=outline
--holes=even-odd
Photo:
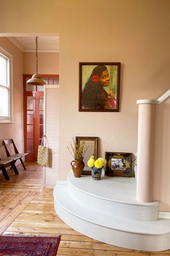
[[[157,219],[159,203],[136,200],[136,180],[74,178],[54,188],[55,210],[73,229],[104,243],[143,251],[170,249],[170,219]],[[133,217],[132,217],[133,216]],[[152,220],[152,221],[150,221]]]

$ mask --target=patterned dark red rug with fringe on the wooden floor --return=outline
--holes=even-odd
[[[60,236],[0,235],[0,256],[56,256]]]

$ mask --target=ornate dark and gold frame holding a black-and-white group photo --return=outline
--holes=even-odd
[[[132,153],[105,152],[105,176],[132,177]]]

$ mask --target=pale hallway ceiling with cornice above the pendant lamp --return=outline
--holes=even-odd
[[[36,51],[35,36],[8,37],[23,52]],[[59,36],[38,36],[38,52],[59,52]]]

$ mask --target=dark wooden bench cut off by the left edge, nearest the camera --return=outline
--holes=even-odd
[[[5,144],[4,144],[4,141],[1,140],[0,141],[0,147],[3,147],[3,146],[5,147]],[[8,157],[7,156],[7,157],[4,157],[4,158],[1,158],[1,156],[0,156],[0,170],[3,172],[4,177],[5,177],[6,180],[9,180],[9,176],[6,172],[6,167],[11,166],[11,169],[14,170],[15,174],[19,174],[19,172],[18,172],[18,170],[15,166],[15,162],[16,162],[16,160],[18,160],[20,158],[21,158],[20,156],[18,156],[18,157],[12,157],[12,156]]]

